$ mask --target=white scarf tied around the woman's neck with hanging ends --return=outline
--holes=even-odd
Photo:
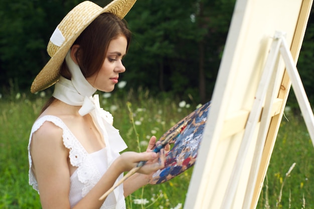
[[[78,111],[81,116],[90,114],[97,128],[101,132],[108,153],[108,166],[113,162],[112,152],[117,153],[126,149],[127,146],[121,138],[119,131],[112,126],[112,115],[100,108],[99,96],[95,94],[96,89],[83,76],[79,66],[74,63],[71,58],[70,51],[66,58],[66,63],[71,72],[72,78],[68,80],[60,77],[59,81],[55,84],[55,91],[53,97],[61,100],[62,102],[73,105],[82,106]],[[115,196],[117,199],[117,189],[115,189]]]

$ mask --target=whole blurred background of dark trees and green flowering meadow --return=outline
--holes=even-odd
[[[0,1],[0,208],[41,208],[37,192],[28,185],[27,145],[53,87],[35,95],[30,87],[50,59],[50,36],[80,2]],[[111,0],[93,2],[104,7]],[[161,136],[199,103],[211,100],[235,2],[137,0],[125,17],[133,33],[123,59],[127,71],[112,94],[100,94],[102,107],[114,115],[130,150],[144,149],[142,143],[151,135]],[[313,15],[297,63],[311,104]],[[284,116],[257,208],[314,208],[314,149],[292,89]],[[136,191],[127,198],[127,208],[182,208],[191,173]],[[138,198],[150,202],[139,207]]]

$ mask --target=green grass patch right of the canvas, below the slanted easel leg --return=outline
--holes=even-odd
[[[314,147],[303,118],[292,114],[286,117],[288,120],[281,121],[267,171],[269,205],[270,208],[314,208]],[[276,206],[285,174],[294,162],[295,167],[284,182],[281,202]],[[266,186],[257,208],[265,208],[265,194]]]

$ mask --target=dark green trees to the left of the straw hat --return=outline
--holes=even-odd
[[[30,85],[49,60],[49,38],[77,0],[0,2],[0,83],[13,81],[20,89]]]

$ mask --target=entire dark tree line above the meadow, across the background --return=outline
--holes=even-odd
[[[52,32],[78,0],[2,0],[0,2],[0,83],[2,88],[29,91],[49,60]],[[101,7],[110,0],[93,1]],[[210,100],[235,0],[138,0],[125,20],[132,42],[120,80],[126,88],[147,88]],[[311,101],[314,19],[310,18],[298,69]],[[293,96],[293,93],[291,93]]]

